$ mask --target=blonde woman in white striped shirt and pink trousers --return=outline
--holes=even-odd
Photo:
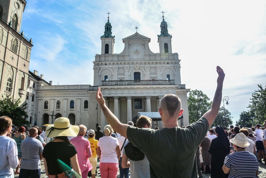
[[[111,126],[110,126],[111,127]],[[111,136],[113,129],[105,127],[105,136],[98,142],[98,156],[100,158],[101,177],[116,178],[118,171],[118,160],[121,156],[117,138]]]

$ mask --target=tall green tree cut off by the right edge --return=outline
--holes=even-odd
[[[266,86],[265,89],[263,89],[261,84],[258,84],[258,87],[259,89],[251,94],[251,104],[249,104],[248,108],[250,112],[254,113],[254,122],[262,124],[264,120],[266,120]]]

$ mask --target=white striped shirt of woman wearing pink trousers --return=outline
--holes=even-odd
[[[100,163],[118,163],[116,146],[119,146],[117,138],[104,136],[99,139],[98,147],[101,149]]]

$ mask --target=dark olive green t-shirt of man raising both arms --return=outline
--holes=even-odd
[[[186,128],[153,130],[129,126],[127,138],[148,158],[151,178],[197,178],[195,153],[208,128],[205,118]]]

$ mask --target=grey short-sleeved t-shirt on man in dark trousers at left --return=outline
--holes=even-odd
[[[21,168],[41,169],[40,153],[43,151],[42,143],[34,137],[28,137],[21,142],[22,151]]]

